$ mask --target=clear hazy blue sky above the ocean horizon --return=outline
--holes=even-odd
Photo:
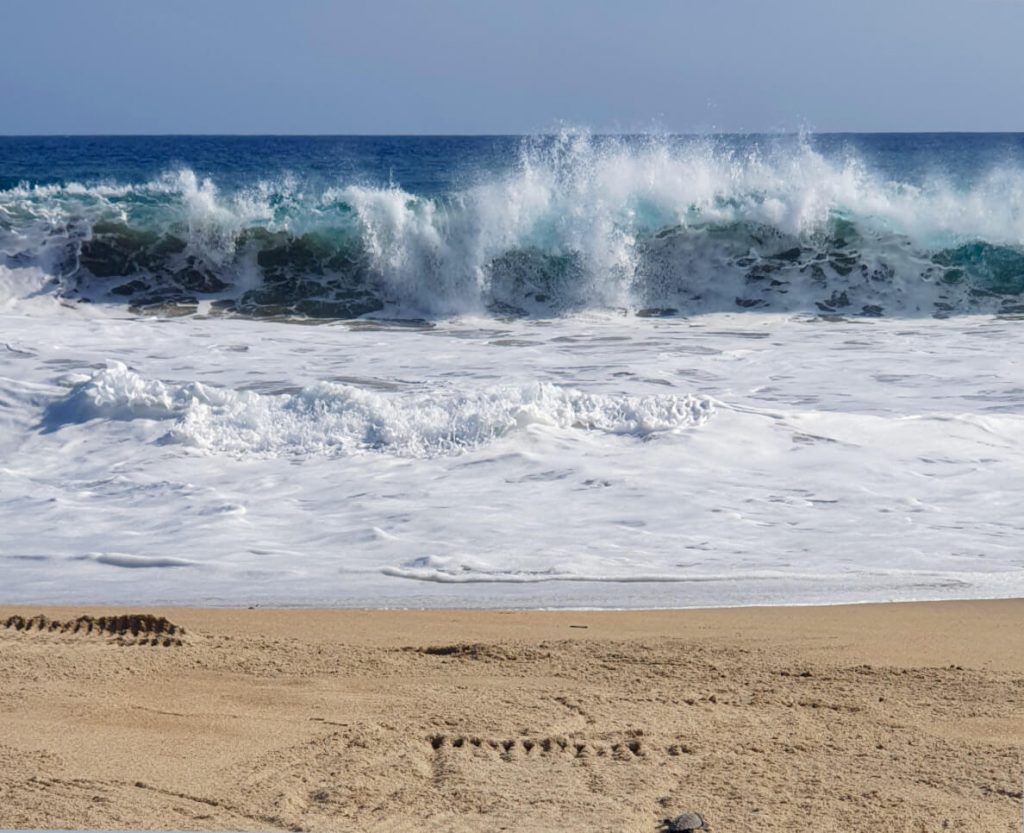
[[[0,0],[0,134],[1024,129],[1024,0]]]

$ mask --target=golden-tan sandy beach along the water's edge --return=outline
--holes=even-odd
[[[0,827],[1021,828],[1024,600],[4,627],[112,613],[0,610]]]

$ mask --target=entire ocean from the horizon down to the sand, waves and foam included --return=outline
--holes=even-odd
[[[1024,593],[1024,134],[0,138],[0,600]]]

